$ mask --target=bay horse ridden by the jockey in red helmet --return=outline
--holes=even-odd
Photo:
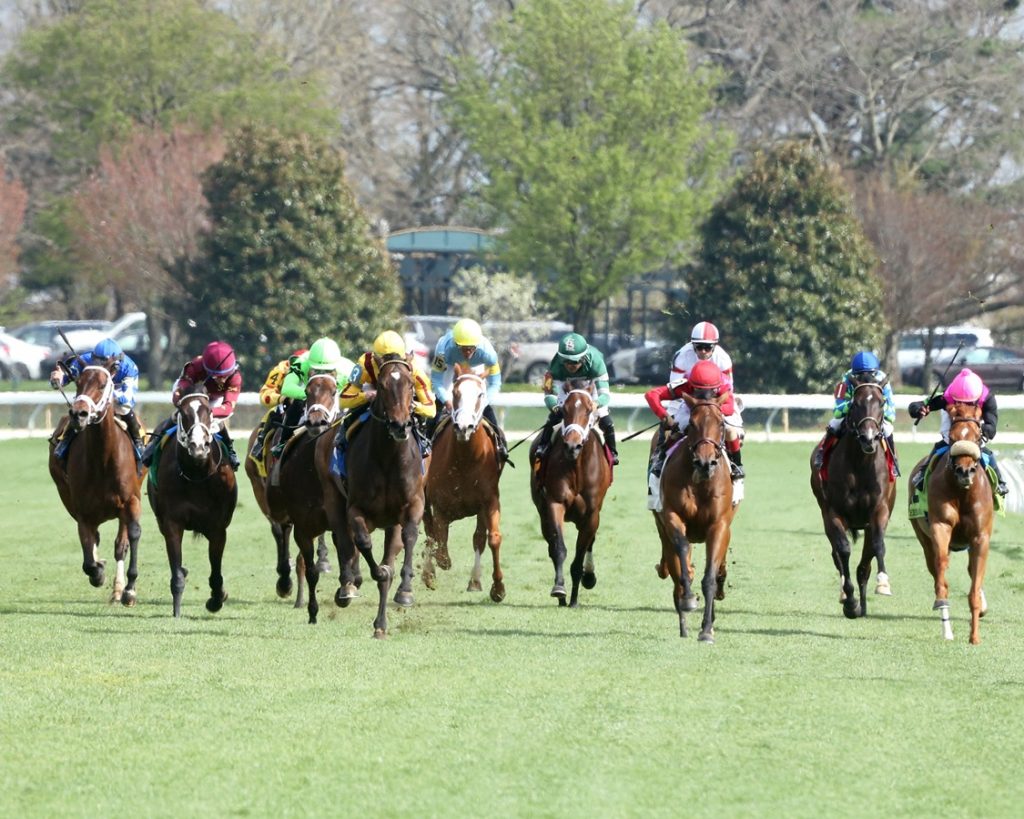
[[[703,399],[683,393],[682,398],[690,407],[690,420],[680,442],[670,447],[662,470],[660,509],[653,513],[662,540],[662,560],[656,568],[658,576],[672,577],[679,636],[686,637],[686,612],[697,606],[691,544],[705,544],[700,580],[705,610],[697,639],[714,643],[715,602],[725,599],[725,556],[736,510],[721,408],[728,396]]]

